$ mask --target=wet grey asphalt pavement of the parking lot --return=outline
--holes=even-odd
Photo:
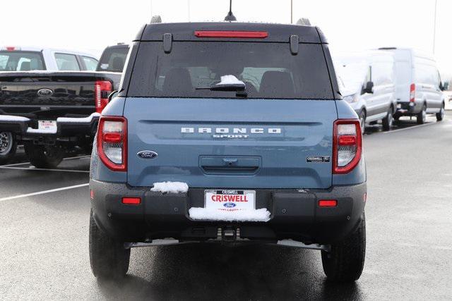
[[[450,300],[452,118],[367,131],[367,256],[356,283],[328,283],[319,251],[273,245],[135,248],[123,281],[96,281],[89,157],[49,171],[19,151],[0,166],[0,298]]]

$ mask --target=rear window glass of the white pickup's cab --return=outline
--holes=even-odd
[[[42,54],[37,51],[0,51],[0,71],[45,70]]]

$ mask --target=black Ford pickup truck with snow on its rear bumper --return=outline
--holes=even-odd
[[[121,73],[0,73],[0,132],[23,144],[30,163],[54,168],[70,149],[90,152],[102,109]]]

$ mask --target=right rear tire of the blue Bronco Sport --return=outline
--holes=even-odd
[[[331,252],[322,251],[323,271],[329,281],[355,281],[361,276],[366,254],[366,219],[343,241],[331,245]]]

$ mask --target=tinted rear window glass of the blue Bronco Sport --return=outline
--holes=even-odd
[[[333,99],[320,44],[173,42],[165,54],[162,42],[141,42],[131,75],[129,96],[236,98],[235,91],[208,87],[224,75],[246,85],[246,97],[264,99]]]

